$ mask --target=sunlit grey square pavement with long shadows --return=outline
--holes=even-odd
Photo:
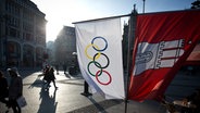
[[[51,84],[49,91],[43,89],[41,72],[23,71],[23,95],[27,105],[22,113],[124,113],[124,100],[105,100],[100,95],[84,97],[84,79],[80,75],[71,76],[60,72],[57,77],[58,90]],[[8,77],[8,76],[7,76]],[[9,79],[9,77],[8,77]],[[0,103],[0,113],[7,108]],[[127,113],[165,113],[163,105],[147,101],[129,101]],[[12,113],[12,110],[9,110]]]

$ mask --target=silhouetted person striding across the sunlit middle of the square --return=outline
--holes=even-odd
[[[49,73],[48,73],[48,85],[47,86],[50,86],[50,83],[52,81],[53,83],[53,86],[54,86],[54,88],[55,89],[58,89],[58,87],[57,87],[57,85],[55,85],[55,76],[54,76],[54,70],[53,70],[53,67],[50,67],[49,68]]]

